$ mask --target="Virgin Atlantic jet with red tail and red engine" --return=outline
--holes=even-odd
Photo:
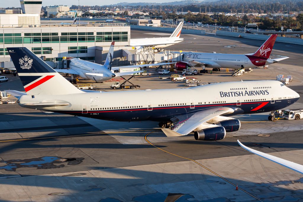
[[[270,65],[289,57],[270,59],[270,53],[274,47],[278,35],[271,35],[255,52],[251,54],[222,54],[205,52],[183,52],[183,62],[177,62],[175,69],[182,71],[188,66],[212,68],[212,71],[220,71],[220,68],[254,68]],[[203,68],[201,73],[207,73]]]

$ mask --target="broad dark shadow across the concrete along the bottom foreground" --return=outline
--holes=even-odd
[[[92,194],[92,196],[94,194],[97,194],[100,199],[105,199],[107,197],[109,199],[110,195],[111,199],[124,201],[126,200],[125,197],[129,197],[131,195],[133,197],[133,201],[151,202],[164,201],[167,194],[170,192],[185,194],[185,196],[181,197],[178,202],[186,202],[188,201],[188,199],[191,201],[197,201],[197,198],[199,197],[207,198],[207,200],[199,201],[209,201],[214,196],[218,195],[225,195],[226,197],[215,198],[215,201],[234,201],[237,196],[241,197],[242,200],[245,199],[245,201],[255,201],[254,198],[243,193],[241,190],[236,191],[235,187],[226,182],[225,180],[214,175],[205,174],[203,171],[198,174],[169,173],[169,170],[162,170],[162,172],[154,172],[147,170],[132,170],[129,168],[105,168],[99,170],[99,167],[90,167],[90,170],[93,171],[79,171],[69,175],[63,174],[63,176],[22,175],[22,177],[15,178],[16,180],[18,180],[17,183],[12,178],[1,179],[0,182],[2,185],[22,187],[34,186],[36,187],[35,189],[39,187],[41,187],[40,189],[50,188],[50,193],[48,195],[58,195],[62,197],[66,196],[66,194],[72,197],[76,196],[77,194],[82,195],[85,192],[89,192],[90,194]],[[201,168],[201,170],[204,169]],[[282,170],[281,173],[286,174],[287,171],[288,170]],[[96,177],[90,177],[91,173],[93,173],[93,175]],[[85,175],[87,174],[88,177],[85,177]],[[97,177],[98,175],[113,177]],[[275,200],[278,202],[300,201],[303,199],[303,193],[300,189],[294,190],[296,188],[288,186],[294,184],[294,181],[291,180],[253,183],[249,180],[239,180],[231,177],[225,178],[234,184],[238,184],[241,189],[244,189],[248,193],[253,194],[258,198],[261,198],[262,200]],[[258,178],[260,179],[260,177]],[[298,177],[295,182],[303,183],[303,178]],[[283,186],[283,188],[279,186]],[[130,187],[135,187],[137,191],[129,193]],[[66,190],[67,193],[52,193],[51,189],[53,188],[60,189],[62,191]],[[27,188],[25,190],[31,189],[32,188]],[[45,189],[43,190],[43,192],[45,192]],[[151,190],[154,191],[153,194],[150,194]],[[73,194],[71,195],[69,191],[72,191]],[[140,195],[140,193],[142,195]],[[39,194],[39,196],[41,197],[42,193],[37,192],[37,194]],[[44,195],[46,196],[45,193]],[[195,197],[195,195],[197,195],[197,197]],[[3,198],[1,199],[1,201],[5,201],[5,199]],[[102,202],[103,200],[100,201]]]

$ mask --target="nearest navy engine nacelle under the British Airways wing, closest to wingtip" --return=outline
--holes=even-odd
[[[225,138],[225,128],[222,126],[195,131],[195,140],[216,141]]]

